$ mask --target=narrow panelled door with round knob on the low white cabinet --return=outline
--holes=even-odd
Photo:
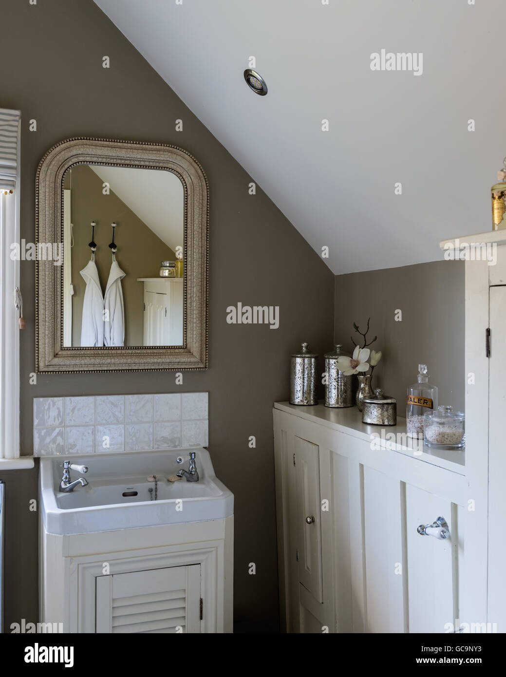
[[[295,437],[295,475],[299,581],[321,603],[323,591],[319,448],[300,437]]]

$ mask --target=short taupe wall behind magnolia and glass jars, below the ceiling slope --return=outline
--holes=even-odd
[[[398,309],[402,322],[395,320]],[[362,340],[353,323],[365,331],[369,315],[369,340],[378,336],[371,349],[383,353],[373,387],[396,397],[399,416],[406,416],[406,387],[416,383],[419,364],[428,365],[440,404],[463,411],[464,262],[442,260],[336,276],[335,342],[351,351],[351,338]]]

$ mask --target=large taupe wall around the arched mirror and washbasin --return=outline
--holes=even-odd
[[[35,369],[35,265],[22,262],[26,330],[21,334],[22,454],[33,450],[33,397],[209,391],[209,451],[235,495],[234,605],[237,621],[278,624],[272,403],[287,399],[289,355],[301,341],[320,354],[333,336],[334,276],[276,206],[184,106],[91,0],[2,1],[0,106],[22,111],[21,235],[35,239],[35,171],[57,141],[83,135],[182,146],[203,165],[211,188],[209,370],[62,374]],[[102,68],[102,57],[110,68]],[[237,86],[245,87],[243,64]],[[218,93],[219,95],[219,93]],[[253,93],[251,93],[254,96]],[[184,131],[175,132],[175,120]],[[37,120],[37,131],[28,121]],[[226,307],[278,305],[280,327],[230,325]],[[255,435],[256,448],[248,447]],[[7,614],[37,617],[35,473],[2,473],[7,483]],[[248,565],[256,563],[256,575]]]

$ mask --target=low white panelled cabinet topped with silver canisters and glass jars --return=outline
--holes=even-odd
[[[444,633],[459,619],[464,454],[380,431],[356,408],[274,406],[282,630]],[[450,538],[417,532],[438,517]]]

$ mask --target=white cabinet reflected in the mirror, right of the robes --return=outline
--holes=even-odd
[[[143,345],[183,345],[183,278],[138,278],[144,284]]]

